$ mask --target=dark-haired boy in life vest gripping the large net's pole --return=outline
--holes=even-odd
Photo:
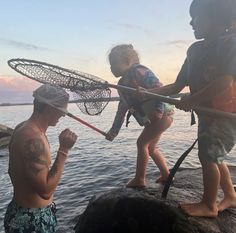
[[[162,95],[179,93],[189,86],[191,95],[179,108],[200,105],[236,112],[236,30],[234,0],[193,0],[191,22],[198,41],[190,46],[175,83],[152,90]],[[192,216],[216,217],[218,211],[236,207],[236,194],[229,169],[223,162],[236,142],[236,120],[198,113],[198,149],[204,193],[199,203],[183,203]],[[217,204],[218,187],[224,199]]]

